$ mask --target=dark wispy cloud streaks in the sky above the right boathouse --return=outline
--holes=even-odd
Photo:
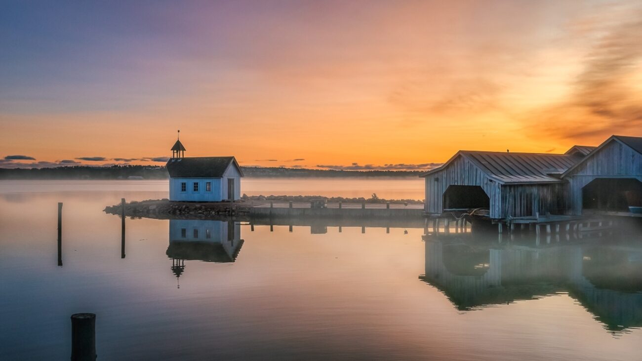
[[[642,8],[618,8],[591,24],[589,35],[596,40],[568,97],[526,119],[527,128],[573,141],[642,135]]]

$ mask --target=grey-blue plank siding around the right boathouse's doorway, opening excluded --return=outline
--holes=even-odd
[[[582,214],[582,188],[597,178],[635,178],[642,181],[642,155],[619,141],[611,141],[565,177],[568,213]]]

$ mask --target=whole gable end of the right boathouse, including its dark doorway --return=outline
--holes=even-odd
[[[638,198],[642,197],[640,185],[635,181],[642,182],[642,137],[609,137],[569,168],[562,179],[568,181],[569,214],[582,215],[587,209],[602,208],[602,211],[626,212],[627,209],[618,209],[617,205],[623,203],[623,199],[612,196],[634,193],[629,195],[629,203],[639,202]]]

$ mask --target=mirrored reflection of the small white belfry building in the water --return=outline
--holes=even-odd
[[[167,256],[176,277],[185,271],[185,261],[234,262],[241,251],[239,222],[220,220],[169,220]]]

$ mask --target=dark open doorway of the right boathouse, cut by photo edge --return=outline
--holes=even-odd
[[[597,178],[582,188],[582,209],[629,212],[642,206],[642,182],[633,178]]]

